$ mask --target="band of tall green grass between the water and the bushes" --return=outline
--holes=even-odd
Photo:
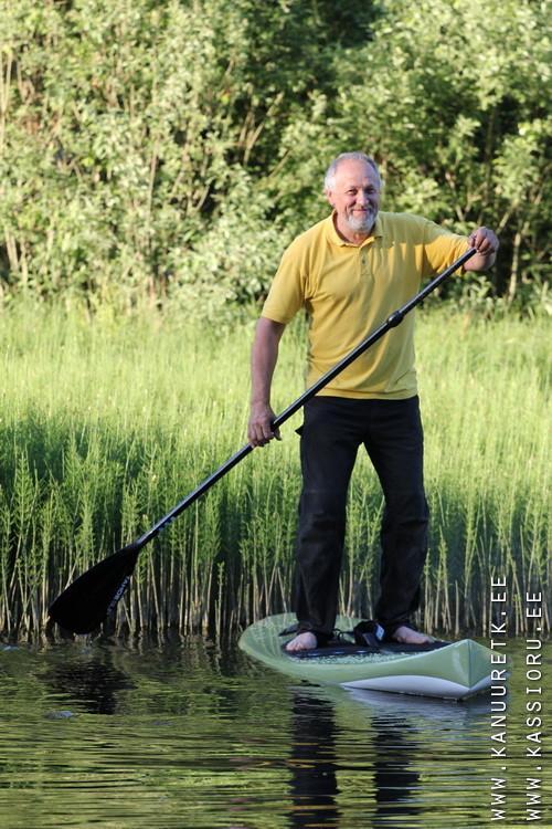
[[[283,340],[274,403],[302,390],[304,328]],[[22,306],[0,326],[0,630],[34,634],[76,575],[128,543],[245,442],[253,323],[138,314],[91,322]],[[417,330],[431,549],[421,622],[482,631],[506,577],[513,629],[549,596],[544,321],[425,312]],[[299,492],[296,416],[140,556],[117,628],[221,632],[288,609]],[[342,609],[371,613],[382,497],[351,483]],[[546,605],[544,625],[550,625]]]

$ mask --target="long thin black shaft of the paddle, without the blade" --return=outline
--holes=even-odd
[[[415,296],[412,297],[412,300],[408,300],[407,303],[402,305],[400,308],[394,311],[382,325],[380,325],[379,328],[376,328],[374,332],[372,332],[365,339],[362,340],[355,348],[352,349],[346,357],[343,357],[342,360],[337,363],[333,368],[330,368],[329,371],[327,371],[325,375],[322,375],[312,386],[310,386],[306,391],[302,392],[300,397],[297,398],[293,403],[290,403],[287,409],[284,409],[280,414],[277,414],[276,418],[273,420],[273,428],[277,429],[283,423],[286,422],[286,420],[289,420],[289,418],[295,414],[296,411],[298,411],[300,408],[305,406],[308,400],[310,400],[315,395],[317,395],[320,389],[322,389],[325,386],[327,386],[330,380],[333,380],[335,377],[337,377],[341,371],[343,371],[348,366],[353,363],[357,357],[360,357],[361,354],[364,354],[370,346],[372,346],[374,343],[376,343],[381,337],[383,337],[384,334],[386,334],[391,328],[395,328],[397,325],[402,323],[406,314],[408,314],[416,305],[420,305],[421,302],[423,302],[426,296],[428,296],[433,291],[435,291],[436,287],[438,287],[448,276],[450,276],[452,273],[458,270],[458,267],[461,267],[465,262],[468,261],[468,259],[471,259],[471,256],[476,253],[475,248],[470,248],[466,251],[466,253],[463,253],[459,259],[456,260],[456,262],[453,262],[452,265],[449,265],[446,271],[443,271],[438,276],[436,276],[434,280],[432,280],[420,293],[417,293]],[[202,483],[199,484],[199,486],[195,487],[192,492],[190,492],[177,506],[174,506],[170,513],[168,513],[164,517],[160,518],[155,526],[151,527],[147,533],[145,533],[140,538],[138,538],[135,542],[135,546],[137,548],[144,547],[148,542],[150,542],[152,538],[158,535],[161,529],[164,529],[169,524],[171,524],[174,518],[177,518],[184,510],[187,510],[191,504],[193,504],[194,501],[197,501],[201,495],[203,495],[208,490],[213,486],[217,481],[223,478],[226,472],[230,472],[231,469],[233,469],[235,465],[240,463],[244,458],[246,458],[250,452],[252,452],[254,447],[251,445],[251,443],[247,443],[245,447],[242,447],[235,454],[233,454],[231,458],[229,458],[225,463],[222,464],[222,466],[219,466],[217,470],[215,470],[209,478],[206,478]]]

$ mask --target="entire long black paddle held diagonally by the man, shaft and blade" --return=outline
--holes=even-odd
[[[443,271],[432,282],[429,282],[418,294],[410,300],[405,305],[393,312],[388,319],[380,325],[372,334],[362,340],[353,350],[347,355],[333,368],[320,377],[310,388],[297,398],[290,406],[278,414],[273,422],[276,429],[288,420],[296,411],[310,400],[321,388],[330,380],[347,368],[353,360],[363,354],[384,334],[394,328],[404,319],[405,315],[418,305],[425,297],[435,291],[444,280],[468,261],[476,250],[470,248],[456,262]],[[137,541],[128,544],[118,553],[105,558],[103,562],[91,567],[73,584],[71,584],[52,604],[49,609],[50,619],[57,622],[62,628],[73,631],[74,633],[89,633],[95,630],[105,617],[114,612],[117,602],[128,587],[130,577],[134,573],[138,555],[142,547],[164,529],[174,518],[197,501],[204,492],[216,483],[226,472],[230,472],[240,461],[242,461],[253,447],[247,443],[245,447],[229,458],[229,460],[219,466],[209,478],[206,478],[195,490],[187,495],[177,506],[174,506],[166,516],[157,522],[147,533],[141,535]]]

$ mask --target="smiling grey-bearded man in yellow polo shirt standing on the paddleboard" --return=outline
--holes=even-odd
[[[496,259],[498,239],[487,228],[467,239],[421,217],[380,212],[378,167],[362,153],[344,153],[331,162],[325,192],[331,216],[285,251],[257,323],[248,423],[254,447],[279,438],[272,428],[272,377],[284,328],[299,308],[309,315],[310,386],[417,293],[423,277],[439,273],[469,246],[477,253],[465,270],[486,270]],[[361,443],[385,499],[376,620],[390,639],[427,641],[412,625],[428,520],[413,340],[411,313],[305,406],[294,608],[298,632],[289,651],[320,647],[331,638],[347,490]]]

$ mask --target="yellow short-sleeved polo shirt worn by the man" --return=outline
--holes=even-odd
[[[309,387],[411,300],[423,279],[448,267],[468,246],[466,237],[427,219],[385,212],[378,214],[372,234],[354,245],[338,235],[329,216],[285,251],[262,315],[287,324],[306,308]],[[413,397],[414,356],[411,312],[318,393]]]

